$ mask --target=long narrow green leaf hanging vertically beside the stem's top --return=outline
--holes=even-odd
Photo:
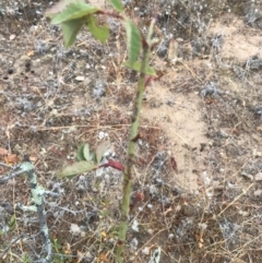
[[[142,47],[141,34],[138,26],[130,20],[126,21],[126,29],[128,37],[128,61],[132,65],[138,60]]]

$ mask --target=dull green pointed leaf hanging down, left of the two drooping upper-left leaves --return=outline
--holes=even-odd
[[[69,48],[74,44],[76,35],[79,34],[83,24],[83,19],[67,21],[62,23],[63,43],[66,48]]]

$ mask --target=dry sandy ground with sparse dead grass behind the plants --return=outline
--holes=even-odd
[[[43,17],[47,1],[2,1],[0,177],[27,154],[41,186],[60,194],[45,200],[52,262],[114,262],[121,172],[56,174],[83,142],[94,150],[109,139],[105,158],[124,163],[138,80],[121,65],[124,31],[108,19],[105,46],[82,31],[66,50]],[[144,31],[157,1],[124,2]],[[162,263],[261,262],[262,4],[166,2],[151,60],[162,77],[141,112],[133,196],[144,198],[131,211],[124,262],[148,262],[157,247]],[[32,203],[23,176],[0,184],[2,262],[41,251],[37,215],[17,203]]]

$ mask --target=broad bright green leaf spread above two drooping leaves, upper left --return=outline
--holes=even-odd
[[[68,4],[61,12],[57,15],[51,15],[51,24],[57,25],[66,21],[78,20],[86,17],[91,14],[96,13],[99,9],[92,7],[85,2],[73,2]]]

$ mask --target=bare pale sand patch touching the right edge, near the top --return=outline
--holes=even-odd
[[[210,33],[223,35],[224,43],[221,49],[221,57],[225,59],[237,59],[245,62],[254,55],[262,57],[262,32],[255,28],[247,28],[241,19],[236,16],[230,23],[225,24],[221,17],[214,23]]]

